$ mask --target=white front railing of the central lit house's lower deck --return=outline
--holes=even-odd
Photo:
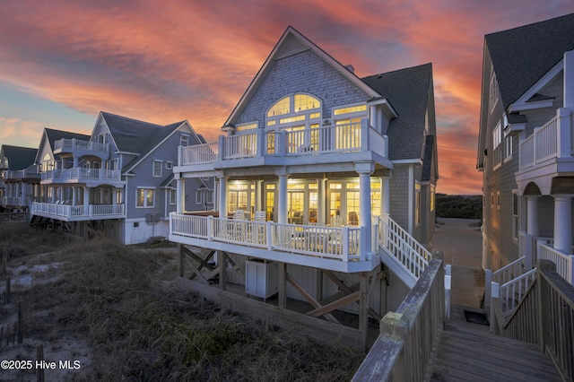
[[[359,246],[360,232],[359,228],[354,227],[307,226],[170,214],[170,233],[173,235],[342,261],[364,260]]]

